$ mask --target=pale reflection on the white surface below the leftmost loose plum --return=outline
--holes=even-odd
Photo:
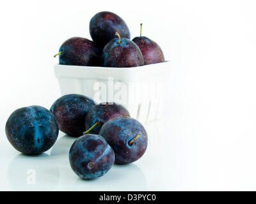
[[[8,180],[14,191],[52,191],[58,186],[60,171],[48,154],[19,154],[8,167]]]

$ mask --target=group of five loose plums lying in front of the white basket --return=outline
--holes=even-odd
[[[69,151],[70,166],[83,179],[95,179],[113,163],[132,163],[147,149],[147,132],[117,103],[95,102],[81,94],[57,99],[50,110],[27,106],[15,110],[5,126],[9,142],[23,154],[51,149],[59,129],[77,137]]]

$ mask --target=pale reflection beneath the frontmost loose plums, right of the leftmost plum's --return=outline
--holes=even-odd
[[[147,179],[136,166],[136,164],[117,165],[103,175],[94,180],[80,179],[74,171],[72,171],[68,152],[72,143],[76,138],[70,136],[62,136],[52,147],[51,157],[55,161],[55,165],[60,169],[60,187],[61,190],[71,191],[109,191],[109,190],[147,190]]]

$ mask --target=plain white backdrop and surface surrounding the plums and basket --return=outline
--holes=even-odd
[[[90,39],[90,18],[105,10],[132,38],[143,22],[172,71],[145,156],[84,181],[68,164],[73,138],[61,133],[52,150],[26,157],[4,126],[15,109],[49,108],[60,96],[52,56],[67,38]],[[255,10],[255,1],[1,1],[0,190],[256,190]]]

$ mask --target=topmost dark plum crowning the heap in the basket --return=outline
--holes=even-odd
[[[102,11],[90,20],[90,34],[97,46],[103,48],[118,32],[124,38],[131,38],[128,26],[115,13]]]

